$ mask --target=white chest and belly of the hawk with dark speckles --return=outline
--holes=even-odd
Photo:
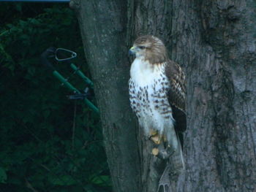
[[[129,80],[129,100],[140,124],[162,131],[166,123],[173,121],[167,99],[170,84],[165,76],[165,65],[152,66],[134,61]]]

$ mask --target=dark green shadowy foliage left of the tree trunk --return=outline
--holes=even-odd
[[[89,76],[75,15],[67,4],[1,3],[0,18],[0,191],[110,191],[98,115],[39,63],[64,47]],[[85,88],[69,64],[56,66]]]

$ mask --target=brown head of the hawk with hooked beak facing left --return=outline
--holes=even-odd
[[[161,64],[167,61],[167,51],[160,39],[151,35],[138,37],[129,49],[129,55],[148,61],[151,64]]]

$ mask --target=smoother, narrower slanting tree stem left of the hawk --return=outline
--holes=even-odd
[[[136,121],[129,107],[124,1],[71,1],[78,13],[86,60],[100,110],[113,191],[138,191]]]

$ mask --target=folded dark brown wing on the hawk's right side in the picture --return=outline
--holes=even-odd
[[[187,127],[185,74],[178,64],[170,60],[165,65],[165,74],[170,82],[167,96],[173,110],[173,118],[176,120],[176,130],[185,131]]]

